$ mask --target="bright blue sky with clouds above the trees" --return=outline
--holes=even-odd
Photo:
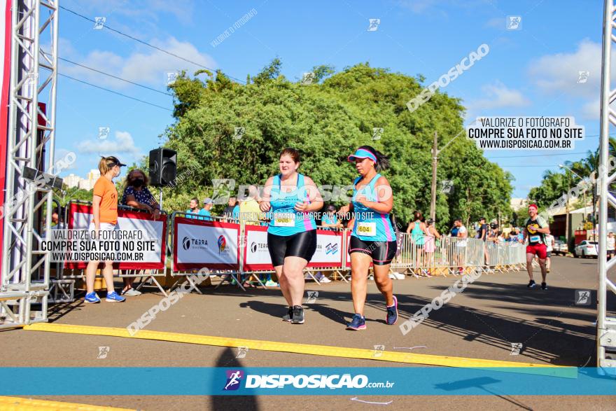
[[[573,116],[588,136],[571,151],[486,152],[515,176],[514,197],[526,197],[545,169],[556,170],[598,145],[599,1],[63,0],[62,6],[92,19],[104,17],[113,29],[241,80],[279,57],[283,74],[295,80],[318,64],[340,70],[370,62],[410,76],[423,74],[427,85],[487,43],[489,54],[442,90],[463,99],[469,119]],[[252,9],[256,14],[248,22],[211,45]],[[521,29],[505,29],[508,15],[521,16]],[[381,20],[376,31],[367,31],[370,18]],[[108,29],[94,29],[69,11],[62,10],[59,21],[60,57],[105,73],[166,92],[167,72],[200,68]],[[589,71],[586,83],[577,83],[578,71]],[[60,73],[169,109],[60,77],[57,154],[78,155],[62,175],[85,176],[96,168],[99,153],[130,163],[160,145],[159,135],[173,122],[172,97],[67,62],[61,62]],[[99,127],[109,127],[109,137],[99,139]]]

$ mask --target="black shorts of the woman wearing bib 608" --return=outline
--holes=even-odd
[[[274,267],[283,265],[285,257],[300,257],[310,262],[316,251],[316,230],[294,235],[274,235],[268,232],[267,248]]]

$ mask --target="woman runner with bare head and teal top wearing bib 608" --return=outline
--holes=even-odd
[[[284,321],[304,323],[304,268],[316,251],[313,213],[323,208],[314,181],[299,174],[300,152],[285,148],[280,153],[280,174],[265,183],[259,208],[269,214],[267,248],[288,305]]]

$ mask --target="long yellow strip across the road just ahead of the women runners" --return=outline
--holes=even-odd
[[[140,340],[159,340],[169,342],[185,342],[187,344],[214,345],[216,347],[248,347],[262,351],[290,352],[294,354],[309,354],[316,356],[331,356],[341,358],[362,358],[365,360],[391,361],[394,363],[411,363],[421,365],[441,365],[458,368],[517,368],[511,370],[525,373],[554,375],[558,377],[577,377],[577,368],[560,367],[546,364],[516,363],[512,361],[484,360],[479,358],[464,358],[454,356],[437,356],[429,354],[411,354],[397,351],[375,351],[373,349],[332,347],[328,345],[297,344],[294,342],[275,342],[262,340],[245,340],[243,338],[214,337],[183,333],[168,333],[165,331],[139,330],[130,335],[126,328],[71,326],[69,324],[36,323],[25,326],[24,330],[49,331],[52,333],[69,333],[85,335],[109,335],[110,337],[137,338]]]

